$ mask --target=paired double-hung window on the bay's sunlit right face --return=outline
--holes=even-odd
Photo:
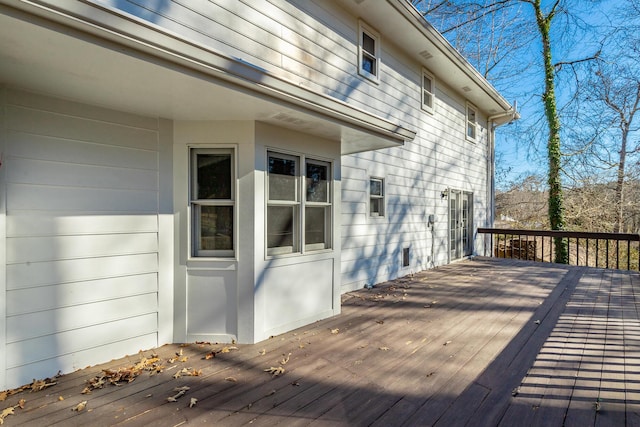
[[[267,158],[267,255],[329,249],[330,163],[274,152]]]

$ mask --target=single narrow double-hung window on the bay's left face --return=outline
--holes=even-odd
[[[193,256],[234,255],[234,176],[233,150],[191,150]]]

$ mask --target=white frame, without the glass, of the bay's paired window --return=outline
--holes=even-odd
[[[296,160],[295,175],[295,200],[271,200],[269,193],[269,158],[277,157],[282,159]],[[267,167],[265,179],[265,253],[267,257],[278,255],[304,255],[310,252],[321,250],[331,250],[333,236],[333,164],[330,160],[322,159],[317,156],[307,156],[299,153],[287,153],[277,149],[269,149],[267,151]],[[307,200],[307,164],[315,164],[327,167],[327,200],[326,201],[310,201]],[[294,212],[293,225],[293,245],[269,247],[268,230],[269,230],[269,207],[271,206],[291,206],[297,208]],[[328,210],[325,216],[324,224],[324,242],[322,243],[306,243],[306,208],[324,208]]]

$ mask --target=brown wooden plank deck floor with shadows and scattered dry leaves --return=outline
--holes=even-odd
[[[145,350],[0,411],[24,399],[5,426],[640,425],[639,284],[478,258],[347,294],[340,316],[259,344]],[[163,369],[82,394],[153,355]]]

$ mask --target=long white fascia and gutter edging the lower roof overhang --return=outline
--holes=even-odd
[[[351,128],[402,145],[417,131],[390,122],[324,94],[300,87],[241,58],[232,58],[185,40],[164,28],[109,7],[83,1],[68,3],[0,0],[0,13],[111,47],[133,56],[147,56],[165,66],[201,73],[240,89],[294,105]],[[39,18],[39,19],[37,19]]]

